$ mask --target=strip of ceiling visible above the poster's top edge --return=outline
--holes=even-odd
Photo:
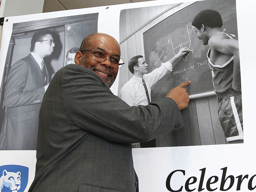
[[[135,3],[149,0],[44,0],[43,12]],[[151,0],[152,1],[152,0]]]

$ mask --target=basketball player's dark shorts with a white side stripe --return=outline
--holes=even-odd
[[[219,120],[227,141],[244,139],[242,95],[226,94],[219,101]]]

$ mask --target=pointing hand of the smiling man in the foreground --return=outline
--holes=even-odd
[[[190,81],[185,81],[184,83],[181,83],[177,87],[173,88],[166,95],[166,97],[172,98],[177,103],[180,110],[188,106],[189,98],[185,87],[188,86],[190,83]]]

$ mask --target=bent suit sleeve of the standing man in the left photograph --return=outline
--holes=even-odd
[[[32,105],[42,102],[44,96],[43,84],[40,85],[39,82],[36,82],[38,75],[29,70],[28,65],[24,60],[19,60],[11,66],[5,88],[5,107]],[[34,79],[28,79],[28,75],[32,75]],[[28,84],[33,86],[29,87]]]

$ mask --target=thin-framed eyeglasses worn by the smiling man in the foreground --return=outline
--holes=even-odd
[[[80,52],[82,51],[92,51],[92,58],[98,62],[103,62],[105,61],[108,57],[110,57],[110,62],[113,64],[112,66],[115,69],[121,69],[121,67],[124,64],[124,60],[121,59],[120,57],[117,56],[109,56],[107,52],[100,50],[100,49],[82,49]]]

